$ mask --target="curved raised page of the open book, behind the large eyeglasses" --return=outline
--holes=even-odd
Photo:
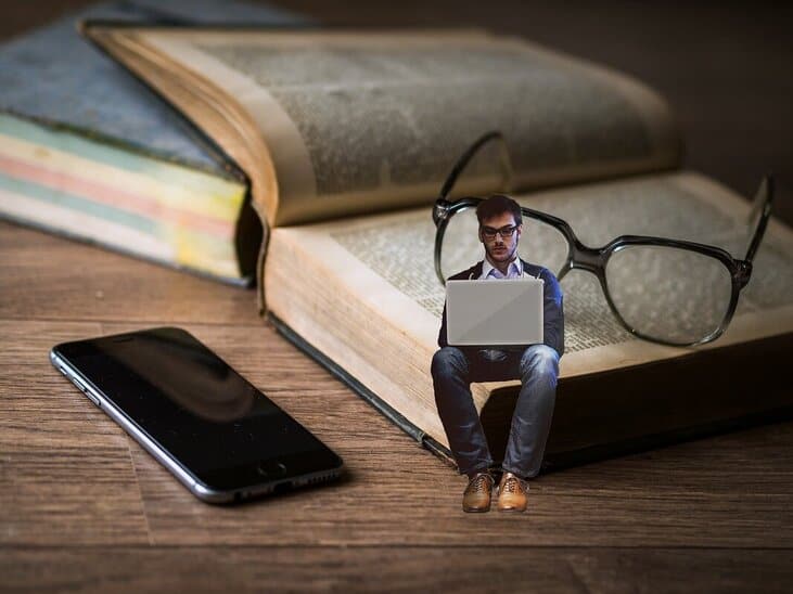
[[[167,56],[170,66],[154,62],[176,64],[176,76],[202,77],[250,114],[274,165],[278,196],[259,197],[274,225],[427,204],[458,156],[494,129],[506,135],[513,175],[504,179],[493,147],[460,191],[550,185],[679,159],[668,108],[652,91],[515,39],[449,31],[114,35],[133,40],[129,47],[141,55]],[[139,74],[146,77],[146,68]],[[191,115],[190,105],[177,105]]]

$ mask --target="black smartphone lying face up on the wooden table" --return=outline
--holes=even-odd
[[[330,448],[181,328],[64,343],[50,360],[203,501],[278,493],[343,472]]]

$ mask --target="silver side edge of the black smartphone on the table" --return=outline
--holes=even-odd
[[[192,475],[192,473],[179,464],[179,462],[166,450],[162,449],[154,440],[141,431],[129,418],[127,418],[120,409],[104,398],[102,392],[92,386],[90,380],[82,377],[68,361],[59,357],[57,352],[55,352],[56,348],[57,347],[53,347],[50,351],[50,362],[52,365],[66,376],[66,378],[72,382],[77,389],[84,392],[91,402],[93,402],[100,410],[104,411],[107,416],[127,431],[127,434],[140,443],[146,452],[154,456],[157,462],[165,466],[179,480],[179,482],[187,487],[188,490],[201,501],[206,503],[230,503],[233,501],[241,501],[243,499],[272,493],[284,486],[287,486],[289,488],[298,488],[312,483],[324,482],[338,478],[344,472],[344,463],[342,463],[338,467],[330,470],[319,470],[317,473],[291,477],[283,480],[277,479],[270,482],[254,485],[242,489],[232,489],[228,491],[212,489],[201,482]]]

